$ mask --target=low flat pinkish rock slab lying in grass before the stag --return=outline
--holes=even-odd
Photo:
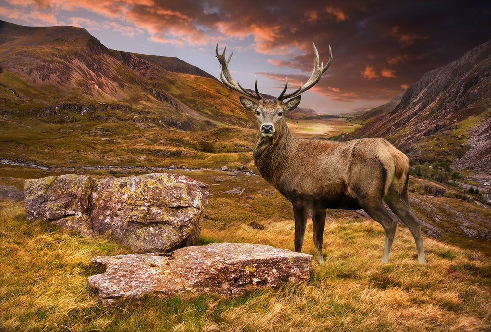
[[[266,245],[212,243],[177,249],[172,253],[94,257],[106,267],[88,277],[104,306],[145,295],[242,295],[260,287],[306,282],[312,256]]]

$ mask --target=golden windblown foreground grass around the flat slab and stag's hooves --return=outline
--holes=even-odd
[[[267,204],[278,199],[272,196],[264,196],[271,198]],[[214,199],[220,198],[211,198],[217,205]],[[373,332],[491,327],[489,257],[425,238],[428,264],[421,266],[412,236],[402,226],[389,263],[381,264],[382,227],[364,217],[354,219],[350,212],[328,218],[326,263],[314,263],[305,284],[240,297],[149,297],[103,308],[87,286],[87,277],[101,272],[90,258],[125,249],[110,238],[83,238],[46,222],[26,221],[22,203],[0,201],[0,211],[0,331]],[[264,229],[254,229],[242,218],[226,227],[203,221],[200,241],[293,249],[291,217],[256,222]],[[315,253],[311,223],[302,251]]]

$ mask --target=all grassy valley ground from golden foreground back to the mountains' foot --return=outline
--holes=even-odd
[[[218,170],[255,170],[254,130],[183,132],[163,129],[148,115],[87,114],[65,123],[54,123],[54,115],[1,118],[2,163],[29,163],[0,164],[0,185],[22,189],[24,179],[65,173],[109,177],[170,172],[161,168],[170,165],[203,167],[172,171],[210,184],[199,245],[248,242],[293,250],[290,203],[258,175]],[[105,118],[97,119],[101,114]],[[336,121],[325,129],[349,127]],[[243,194],[224,193],[230,189]],[[418,218],[445,230],[439,240],[425,237],[426,266],[417,263],[405,226],[382,265],[382,227],[358,212],[330,210],[326,263],[314,263],[306,284],[241,297],[147,298],[107,308],[87,286],[88,276],[102,273],[90,258],[128,250],[110,237],[84,238],[44,221],[26,221],[23,203],[0,201],[0,331],[487,331],[491,244],[465,237],[455,221],[481,227],[491,211],[452,193],[425,195],[417,179],[411,178],[409,191]],[[309,222],[305,253],[315,253],[312,236]]]

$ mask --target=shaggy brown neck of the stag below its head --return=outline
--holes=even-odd
[[[279,131],[272,137],[263,137],[258,131],[253,151],[254,164],[261,176],[273,186],[279,179],[282,168],[287,164],[298,141],[298,138],[290,134],[284,120],[279,127]]]

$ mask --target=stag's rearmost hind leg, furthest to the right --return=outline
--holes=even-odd
[[[425,252],[423,249],[423,236],[421,235],[421,221],[414,215],[411,207],[409,206],[408,194],[393,195],[385,197],[385,202],[389,208],[401,219],[401,221],[408,226],[411,231],[412,237],[416,242],[416,249],[418,250],[418,261],[420,264],[426,264]]]

